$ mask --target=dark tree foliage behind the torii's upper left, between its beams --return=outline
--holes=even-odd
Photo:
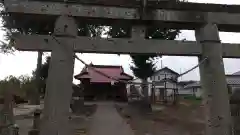
[[[0,41],[0,53],[13,53],[14,49],[14,35],[17,34],[45,34],[50,35],[54,32],[54,24],[56,18],[50,17],[45,21],[33,21],[31,18],[19,17],[18,15],[10,15],[4,12],[2,7],[1,18],[3,24],[3,31],[5,31],[4,41]],[[19,18],[21,18],[19,20]],[[81,22],[78,24],[78,35],[90,35],[92,37],[101,35],[104,27],[100,25],[93,25]]]

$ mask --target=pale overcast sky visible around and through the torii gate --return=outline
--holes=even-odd
[[[201,3],[221,3],[221,4],[240,4],[240,0],[189,0]],[[0,31],[0,38],[3,39],[3,31]],[[193,31],[183,31],[178,37],[179,39],[186,38],[187,40],[195,40]],[[237,33],[220,33],[222,42],[240,43],[240,34]],[[47,54],[45,54],[47,56]],[[45,57],[44,56],[44,57]],[[132,74],[129,69],[131,59],[127,55],[107,55],[107,54],[78,54],[85,62],[102,65],[122,65],[125,72]],[[175,70],[176,72],[184,72],[195,66],[198,61],[196,57],[163,57],[163,65]],[[31,75],[32,70],[36,68],[37,53],[35,52],[16,52],[14,55],[0,54],[0,79],[9,75]],[[160,61],[158,67],[160,68]],[[240,70],[240,59],[224,59],[225,72],[231,74]],[[81,71],[83,65],[79,61],[75,61],[74,74]],[[196,69],[186,75],[182,80],[199,80],[199,70]],[[76,80],[74,81],[76,82]]]

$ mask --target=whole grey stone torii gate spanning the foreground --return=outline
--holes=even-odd
[[[132,2],[132,3],[131,3]],[[94,5],[92,5],[94,4]],[[5,0],[6,12],[11,15],[26,16],[41,21],[46,16],[57,17],[53,36],[17,35],[16,48],[23,51],[51,51],[52,59],[47,80],[44,108],[44,120],[41,135],[67,135],[68,108],[71,98],[74,52],[198,56],[201,83],[204,89],[206,106],[206,134],[231,135],[231,115],[223,57],[239,58],[239,44],[221,44],[219,30],[239,31],[240,6],[218,4],[172,3],[166,2],[148,5],[152,8],[145,15],[140,15],[130,1],[120,4],[40,2]],[[106,6],[107,5],[107,6]],[[121,5],[121,6],[118,6]],[[153,6],[154,5],[154,6]],[[20,17],[20,18],[21,18]],[[140,19],[141,18],[141,19]],[[28,18],[29,19],[29,18]],[[132,26],[131,38],[92,38],[77,35],[76,22],[111,24],[123,21]],[[146,22],[168,28],[195,30],[197,42],[147,40],[145,39]]]

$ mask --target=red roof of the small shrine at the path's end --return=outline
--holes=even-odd
[[[89,78],[91,82],[104,82],[110,83],[114,81],[101,73],[104,73],[114,79],[118,80],[132,80],[133,77],[124,73],[122,66],[106,66],[106,65],[91,65],[92,68],[84,67],[80,74],[75,78],[80,80],[83,78]],[[101,72],[97,72],[97,71]]]

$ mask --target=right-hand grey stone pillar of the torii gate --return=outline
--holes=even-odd
[[[196,30],[202,46],[199,61],[206,116],[206,135],[231,135],[229,96],[217,25],[208,23]]]

